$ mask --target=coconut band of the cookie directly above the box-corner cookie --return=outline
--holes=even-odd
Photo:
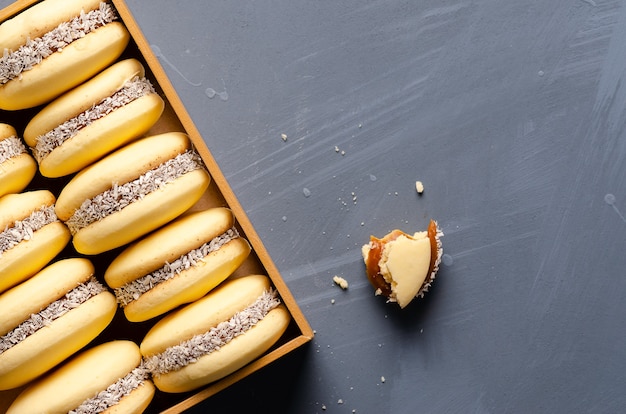
[[[117,302],[122,307],[128,305],[159,283],[172,279],[182,271],[197,266],[209,253],[219,250],[223,245],[237,237],[239,237],[239,232],[235,227],[232,227],[197,249],[180,256],[172,263],[165,262],[165,265],[160,269],[114,289]]]

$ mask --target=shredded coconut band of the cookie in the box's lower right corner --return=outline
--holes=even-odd
[[[167,348],[160,354],[144,358],[152,375],[162,375],[193,364],[204,355],[219,350],[239,335],[252,329],[272,309],[280,304],[273,289],[264,292],[244,310],[237,312],[228,321],[220,322],[208,332],[195,335],[178,345]]]

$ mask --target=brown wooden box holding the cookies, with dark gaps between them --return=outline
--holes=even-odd
[[[36,0],[20,0],[11,4],[0,11],[0,22],[11,18],[36,2]],[[119,60],[129,57],[134,57],[140,60],[146,68],[146,76],[151,80],[161,97],[166,102],[165,110],[160,120],[146,135],[153,135],[167,131],[183,131],[190,136],[191,141],[202,157],[212,178],[209,189],[204,194],[202,199],[194,207],[192,207],[192,209],[227,206],[233,211],[238,223],[239,231],[241,235],[250,242],[253,251],[247,261],[231,277],[237,277],[250,273],[263,273],[268,275],[292,317],[290,326],[274,347],[272,347],[259,359],[234,372],[228,377],[209,384],[205,388],[189,393],[168,394],[157,390],[157,394],[148,408],[148,412],[175,413],[181,412],[198,404],[200,401],[205,400],[211,395],[223,390],[251,373],[258,371],[265,365],[268,365],[301,347],[312,339],[313,331],[302,314],[302,311],[298,307],[298,304],[289,292],[285,282],[281,278],[276,266],[264,248],[261,239],[254,230],[254,227],[248,219],[245,211],[237,201],[237,197],[220,171],[220,168],[218,167],[218,164],[216,163],[209,148],[207,148],[202,136],[183,107],[181,100],[168,80],[158,59],[153,54],[148,42],[142,34],[141,29],[138,27],[124,0],[112,0],[111,3],[117,9],[120,20],[126,25],[131,35],[131,41]],[[18,135],[21,136],[21,133],[30,118],[40,109],[41,108],[39,107],[15,112],[0,110],[0,122],[8,123],[15,127]],[[47,188],[58,196],[60,190],[68,180],[69,179],[64,178],[48,179],[42,177],[38,173],[26,190]],[[118,253],[119,249],[97,256],[88,256],[88,258],[94,262],[96,266],[96,276],[101,279],[101,281],[103,281],[102,275],[108,266],[108,263],[110,263],[110,261]],[[70,243],[68,247],[58,256],[58,258],[76,256],[80,255],[73,250]],[[2,316],[0,315],[0,317]],[[158,318],[156,318],[156,320],[158,320]],[[143,339],[145,333],[152,325],[154,325],[156,320],[141,323],[128,322],[121,309],[118,309],[113,322],[88,346],[94,346],[113,339],[131,339],[139,343]],[[10,403],[23,388],[24,387],[9,391],[0,391],[0,412],[4,412],[8,408]]]

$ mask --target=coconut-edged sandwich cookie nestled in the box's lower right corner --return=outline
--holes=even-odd
[[[140,349],[159,390],[191,391],[263,355],[289,321],[269,278],[245,276],[166,315],[148,331]]]

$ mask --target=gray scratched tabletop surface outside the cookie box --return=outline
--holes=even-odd
[[[625,412],[626,1],[128,4],[317,332],[193,412]],[[360,246],[431,217],[400,311]]]

